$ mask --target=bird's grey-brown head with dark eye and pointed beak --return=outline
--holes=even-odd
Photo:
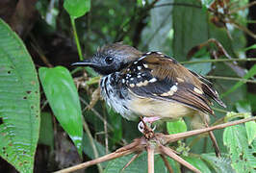
[[[99,74],[108,75],[120,71],[141,55],[136,48],[116,42],[99,48],[89,60],[75,62],[72,65],[90,66]]]

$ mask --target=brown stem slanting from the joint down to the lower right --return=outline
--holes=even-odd
[[[181,157],[179,157],[178,155],[176,155],[172,149],[170,148],[167,148],[166,146],[164,145],[160,145],[160,152],[162,154],[165,154],[167,155],[169,158],[175,160],[175,161],[178,161],[179,163],[185,165],[186,167],[188,167],[189,169],[191,169],[193,172],[195,173],[201,173],[201,171],[199,171],[197,168],[195,168],[194,166],[192,166],[191,163],[189,163],[188,161],[185,161],[183,160]]]

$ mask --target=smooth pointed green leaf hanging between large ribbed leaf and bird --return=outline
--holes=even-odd
[[[63,66],[41,67],[39,79],[54,115],[82,154],[82,111],[69,71]]]

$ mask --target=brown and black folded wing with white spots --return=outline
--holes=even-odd
[[[181,103],[197,111],[213,114],[209,107],[217,92],[195,74],[159,52],[150,52],[123,73],[125,85],[139,97]],[[215,99],[216,100],[216,99]]]

